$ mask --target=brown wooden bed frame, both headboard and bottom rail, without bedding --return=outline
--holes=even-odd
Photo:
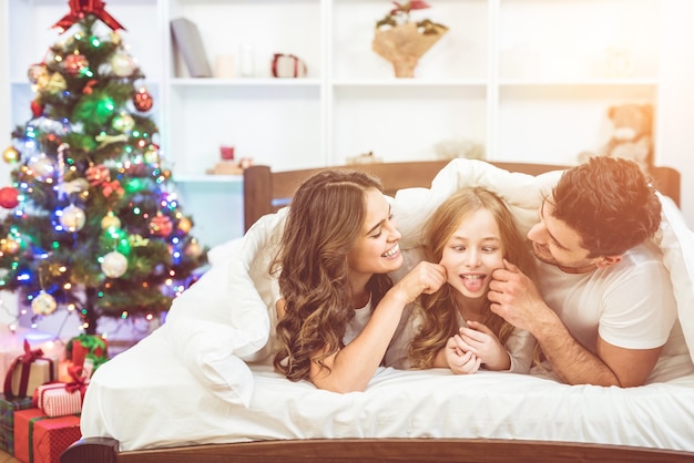
[[[386,192],[429,187],[443,161],[358,164],[333,168],[355,168],[381,178]],[[511,172],[538,175],[563,168],[558,165],[492,163]],[[325,167],[327,168],[327,167]],[[286,205],[307,176],[322,168],[272,172],[252,166],[244,172],[245,228],[261,216]],[[659,189],[680,204],[680,173],[656,167],[652,174]],[[692,462],[694,452],[573,442],[544,442],[486,439],[325,439],[278,440],[231,444],[188,445],[170,449],[119,451],[109,438],[88,438],[72,444],[61,463],[176,463],[176,462]]]

